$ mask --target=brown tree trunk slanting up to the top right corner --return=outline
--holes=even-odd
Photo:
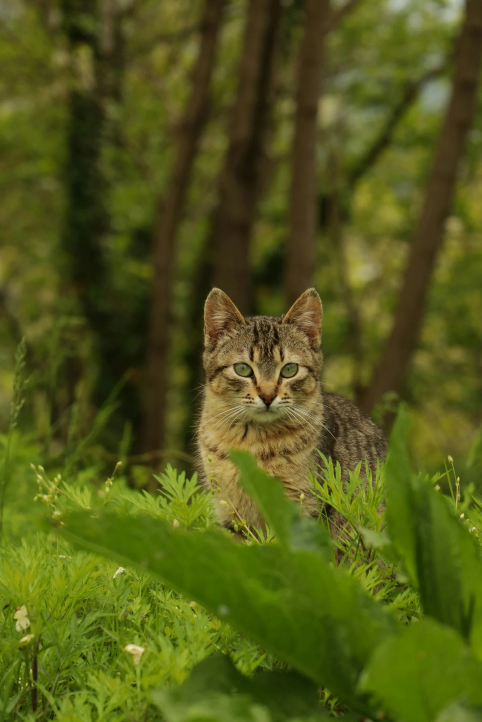
[[[455,192],[457,168],[470,128],[482,59],[482,2],[468,0],[449,101],[432,164],[425,199],[413,236],[395,321],[361,407],[371,412],[384,393],[403,391],[408,366],[418,342],[431,274],[442,241],[444,223]]]

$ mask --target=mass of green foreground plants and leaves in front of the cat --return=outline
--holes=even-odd
[[[320,508],[346,519],[336,545],[246,453],[267,529],[240,523],[237,540],[171,468],[152,497],[119,466],[97,488],[36,467],[55,529],[4,547],[0,721],[475,718],[482,506],[410,471],[405,427],[373,483],[359,467],[343,485],[320,458]]]

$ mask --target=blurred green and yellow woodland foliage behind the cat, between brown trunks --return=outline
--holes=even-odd
[[[84,440],[82,463],[105,471],[123,458],[136,485],[147,482],[152,464],[191,466],[202,297],[216,277],[210,238],[249,14],[244,0],[218,5],[210,97],[169,260],[169,346],[156,367],[165,432],[154,444],[143,431],[153,258],[209,2],[0,0],[0,428],[7,432],[14,352],[25,336],[32,375],[20,418],[25,460],[56,466],[71,458],[78,466]],[[289,296],[291,143],[306,7],[283,0],[278,10],[243,309],[274,315]],[[340,17],[324,43],[312,282],[324,306],[323,383],[356,399],[392,326],[465,7],[333,0],[332,12]],[[478,463],[481,199],[479,92],[399,394],[408,401],[417,466],[439,466],[447,453],[467,458],[471,449]],[[230,239],[222,243],[229,248]],[[374,414],[382,417],[396,399],[385,394]]]

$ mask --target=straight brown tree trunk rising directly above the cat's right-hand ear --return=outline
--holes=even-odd
[[[306,1],[291,161],[290,235],[286,258],[288,306],[313,284],[317,116],[322,84],[324,35],[330,16],[329,0]]]

